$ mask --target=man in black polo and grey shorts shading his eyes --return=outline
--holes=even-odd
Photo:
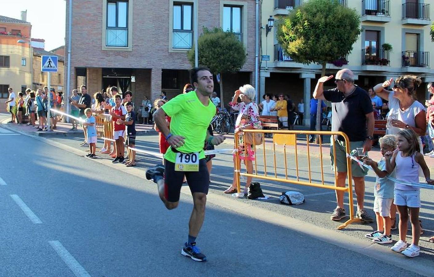
[[[313,97],[315,99],[328,100],[332,102],[332,131],[344,132],[349,138],[349,148],[352,151],[357,147],[363,147],[364,152],[372,148],[372,135],[374,133],[374,114],[372,112],[371,99],[368,92],[354,84],[354,74],[349,69],[342,69],[336,73],[336,88],[324,91],[324,82],[332,79],[332,76],[319,78]],[[366,131],[368,129],[368,131]],[[330,142],[330,156],[332,162],[333,145],[336,149],[336,186],[345,187],[347,178],[347,156],[345,150],[345,139],[342,136],[334,135]],[[364,209],[365,198],[365,175],[367,174],[357,163],[352,162],[352,177],[354,190],[357,196],[356,218],[363,222],[374,221]],[[345,218],[344,192],[336,191],[337,207],[331,219],[339,221]]]

